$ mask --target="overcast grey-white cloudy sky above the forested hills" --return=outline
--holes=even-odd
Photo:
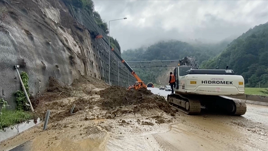
[[[93,0],[101,18],[110,22],[110,36],[122,50],[159,40],[238,37],[268,21],[268,1]]]

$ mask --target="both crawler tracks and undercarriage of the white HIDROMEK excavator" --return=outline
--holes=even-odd
[[[188,115],[199,114],[201,108],[234,116],[241,116],[247,112],[245,102],[221,96],[172,94],[168,95],[168,103]]]

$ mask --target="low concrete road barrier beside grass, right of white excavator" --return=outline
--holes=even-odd
[[[228,97],[246,100],[246,103],[268,106],[268,96],[245,94],[241,96],[228,96]]]

